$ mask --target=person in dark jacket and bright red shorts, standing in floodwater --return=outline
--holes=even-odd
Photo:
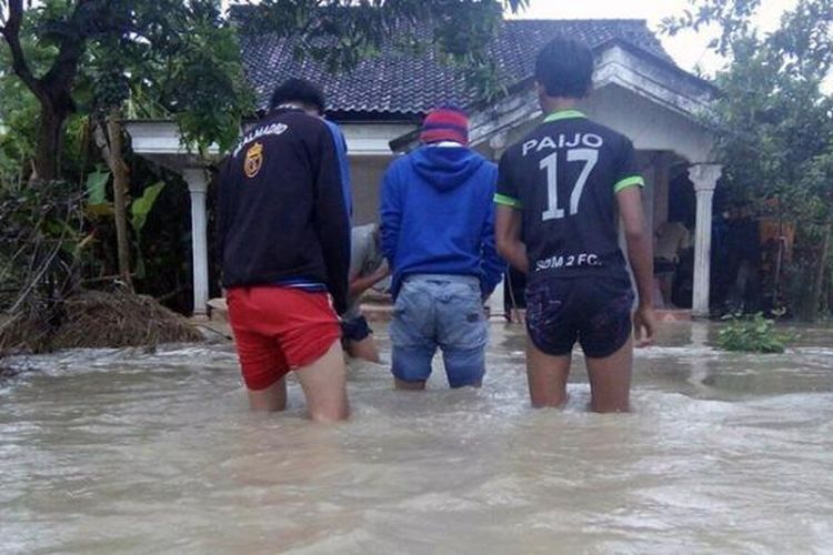
[[[322,93],[290,80],[220,174],[218,240],[229,322],[253,410],[281,411],[295,371],[313,420],[348,416],[341,327],[349,194]]]

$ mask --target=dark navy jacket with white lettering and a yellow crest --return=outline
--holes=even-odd
[[[218,191],[227,289],[325,289],[347,310],[350,214],[337,144],[329,125],[294,109],[271,112],[243,137]]]

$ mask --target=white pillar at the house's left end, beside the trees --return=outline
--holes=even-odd
[[[205,193],[208,175],[201,168],[182,172],[191,193],[191,261],[193,266],[193,315],[208,315],[208,218]]]

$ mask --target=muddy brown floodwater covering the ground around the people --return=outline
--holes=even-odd
[[[0,553],[833,553],[833,330],[762,356],[666,324],[613,416],[580,357],[566,410],[531,410],[521,330],[492,332],[481,391],[354,364],[330,427],[294,382],[250,414],[228,344],[18,361]]]

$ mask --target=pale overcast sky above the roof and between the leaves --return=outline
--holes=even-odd
[[[519,17],[529,19],[646,19],[676,63],[689,71],[700,64],[712,73],[722,61],[707,51],[706,44],[714,31],[694,33],[686,31],[676,37],[659,33],[658,26],[666,16],[681,14],[688,0],[531,0],[531,6]],[[756,18],[757,26],[766,31],[777,27],[784,10],[795,6],[795,0],[763,0]]]

